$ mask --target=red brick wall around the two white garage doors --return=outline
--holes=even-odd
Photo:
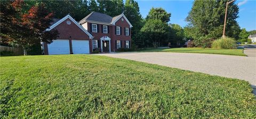
[[[68,25],[67,21],[70,21],[71,24]],[[92,53],[92,40],[90,37],[80,29],[74,22],[70,19],[67,19],[57,25],[54,29],[57,29],[59,32],[59,37],[57,39],[69,39],[70,43],[70,53],[72,53],[72,42],[71,39],[74,40],[89,40],[90,53]],[[47,45],[44,45],[44,53],[48,55]]]

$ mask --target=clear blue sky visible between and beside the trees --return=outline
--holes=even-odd
[[[167,12],[171,13],[170,23],[175,23],[185,27],[187,22],[185,18],[188,12],[191,10],[193,1],[142,1],[137,0],[140,13],[145,18],[151,7],[162,7]],[[237,19],[238,24],[241,28],[245,28],[247,31],[256,30],[256,1],[243,0],[236,1],[239,7],[239,18]]]

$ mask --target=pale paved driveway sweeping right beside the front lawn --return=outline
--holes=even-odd
[[[256,91],[256,57],[195,53],[110,53],[104,56],[249,81]],[[256,92],[254,92],[256,95]]]

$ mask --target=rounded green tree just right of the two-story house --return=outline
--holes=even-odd
[[[145,35],[145,40],[148,40],[147,43],[154,47],[160,46],[160,43],[167,40],[167,31],[167,23],[157,19],[147,20],[145,25],[141,28],[141,32]]]

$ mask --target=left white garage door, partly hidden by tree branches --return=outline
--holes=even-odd
[[[48,44],[49,55],[70,54],[69,40],[53,40]]]

